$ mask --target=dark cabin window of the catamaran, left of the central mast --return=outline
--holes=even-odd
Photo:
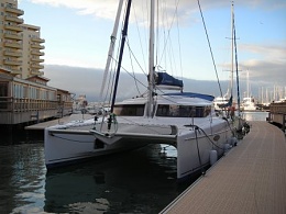
[[[113,113],[121,116],[143,116],[144,104],[116,105]]]

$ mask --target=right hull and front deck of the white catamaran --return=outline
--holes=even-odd
[[[118,142],[173,145],[177,148],[177,178],[183,179],[210,165],[211,150],[216,150],[218,156],[222,156],[226,144],[231,144],[232,133],[226,121],[221,119],[213,119],[212,122],[208,123],[206,121],[206,119],[201,120],[201,126],[198,125],[201,128],[199,131],[195,131],[195,127],[191,126],[182,126],[179,121],[177,126],[156,125],[156,122],[162,124],[160,123],[162,121],[157,119],[142,120],[136,125],[119,122],[117,133],[108,135],[105,132],[95,131],[95,135],[110,145]]]

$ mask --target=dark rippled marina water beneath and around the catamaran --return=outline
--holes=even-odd
[[[265,121],[266,112],[245,112]],[[158,213],[194,180],[176,180],[176,149],[151,145],[101,159],[46,170],[43,136],[2,133],[1,213]]]

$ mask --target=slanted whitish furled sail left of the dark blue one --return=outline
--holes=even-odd
[[[114,22],[114,26],[113,26],[113,32],[110,36],[108,58],[107,58],[105,75],[103,75],[102,85],[101,85],[101,89],[100,89],[100,101],[102,101],[102,94],[103,94],[103,91],[106,88],[107,76],[108,76],[110,63],[111,63],[111,59],[113,56],[113,50],[114,50],[116,40],[117,40],[117,34],[118,34],[119,20],[120,20],[120,15],[121,15],[121,11],[122,11],[122,4],[123,4],[123,0],[120,0],[119,4],[118,4],[118,11],[117,11],[117,18],[116,18],[116,22]]]

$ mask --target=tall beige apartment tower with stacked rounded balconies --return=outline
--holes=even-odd
[[[0,0],[0,68],[26,79],[43,76],[45,40],[40,26],[25,24],[16,0]]]

